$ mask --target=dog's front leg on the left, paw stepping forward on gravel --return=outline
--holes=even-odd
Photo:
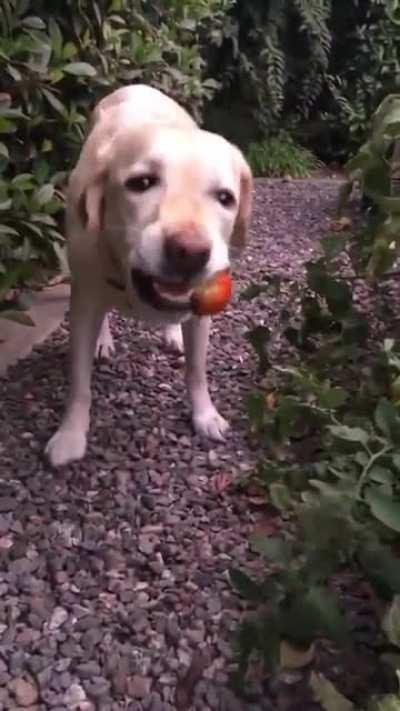
[[[105,307],[95,291],[73,284],[70,302],[70,387],[62,423],[46,447],[53,466],[81,459],[86,451],[91,372]]]

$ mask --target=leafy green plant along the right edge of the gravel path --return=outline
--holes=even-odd
[[[232,584],[254,607],[237,636],[235,681],[242,686],[254,658],[266,674],[284,666],[288,644],[308,662],[316,640],[352,644],[333,586],[343,569],[368,580],[380,604],[398,610],[400,344],[388,335],[394,314],[380,298],[383,286],[374,282],[378,330],[353,298],[359,280],[382,279],[393,262],[377,262],[376,240],[383,234],[399,239],[399,198],[392,195],[398,102],[389,96],[378,108],[370,140],[348,165],[342,195],[361,181],[378,214],[368,212],[354,233],[349,218],[334,221],[335,231],[321,240],[322,256],[306,264],[304,284],[266,276],[242,294],[251,299],[282,289],[283,332],[295,349],[295,365],[273,366],[268,329],[256,326],[247,334],[261,376],[247,399],[250,435],[264,457],[243,486],[256,487],[258,496],[265,492],[281,525],[278,534],[250,541],[265,560],[265,575],[231,572]],[[370,643],[377,656],[400,646],[400,634],[393,642],[385,625],[383,633]],[[370,708],[392,702],[398,698]]]

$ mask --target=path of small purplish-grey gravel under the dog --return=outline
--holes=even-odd
[[[273,708],[243,706],[226,687],[241,611],[227,570],[251,564],[254,526],[224,490],[255,456],[242,397],[256,363],[243,333],[252,320],[273,327],[279,310],[237,295],[264,272],[300,274],[336,194],[328,181],[257,184],[251,245],[209,357],[232,423],[225,444],[192,435],[181,360],[118,317],[83,462],[54,473],[42,458],[65,397],[65,327],[0,380],[0,709]]]

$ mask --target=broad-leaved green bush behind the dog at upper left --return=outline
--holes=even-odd
[[[145,82],[200,119],[207,51],[232,0],[4,0],[0,8],[0,293],[62,259],[62,188],[93,104]],[[1,298],[1,297],[0,297]]]

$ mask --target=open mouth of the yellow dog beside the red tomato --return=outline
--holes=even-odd
[[[188,281],[163,280],[139,269],[131,272],[132,283],[139,297],[156,309],[189,311],[193,286]]]

